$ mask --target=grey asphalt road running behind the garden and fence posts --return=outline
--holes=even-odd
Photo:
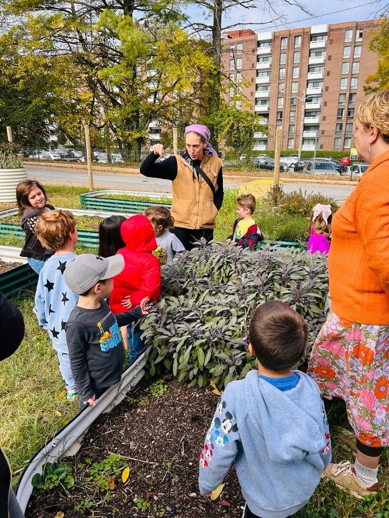
[[[87,186],[88,174],[86,171],[70,170],[70,169],[49,169],[47,167],[27,167],[27,175],[29,178],[37,178],[42,183],[51,184],[70,184],[75,186]],[[245,185],[253,179],[239,180],[237,178],[224,177],[224,185],[233,189],[241,185]],[[96,189],[124,189],[130,191],[154,191],[161,193],[172,192],[172,182],[169,180],[161,180],[157,178],[145,178],[142,175],[98,172],[93,171],[94,187]],[[285,192],[296,191],[301,189],[307,193],[322,193],[326,196],[332,196],[342,203],[354,189],[354,185],[330,185],[323,183],[304,183],[291,182],[283,184]]]

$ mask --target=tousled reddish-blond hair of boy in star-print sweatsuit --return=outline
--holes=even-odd
[[[41,215],[35,225],[35,235],[46,248],[57,252],[76,229],[74,215],[67,210],[50,210]]]

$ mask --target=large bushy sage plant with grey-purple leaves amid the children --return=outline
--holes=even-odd
[[[312,343],[325,321],[326,259],[269,246],[254,252],[216,243],[162,271],[162,296],[141,324],[152,345],[147,375],[225,386],[254,365],[247,351],[251,315],[268,299],[284,300],[306,320]]]

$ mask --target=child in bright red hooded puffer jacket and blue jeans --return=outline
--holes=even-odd
[[[113,313],[123,311],[122,302],[127,299],[135,307],[140,301],[149,297],[158,300],[161,291],[160,263],[151,252],[157,248],[154,228],[142,214],[131,216],[120,227],[121,237],[125,248],[117,253],[124,257],[124,268],[114,277],[114,289],[109,297],[109,306]],[[130,363],[144,351],[140,337],[142,330],[139,325],[128,330],[129,361]]]

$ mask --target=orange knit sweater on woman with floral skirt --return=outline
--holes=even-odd
[[[334,215],[328,271],[332,311],[359,324],[389,325],[389,151]]]

